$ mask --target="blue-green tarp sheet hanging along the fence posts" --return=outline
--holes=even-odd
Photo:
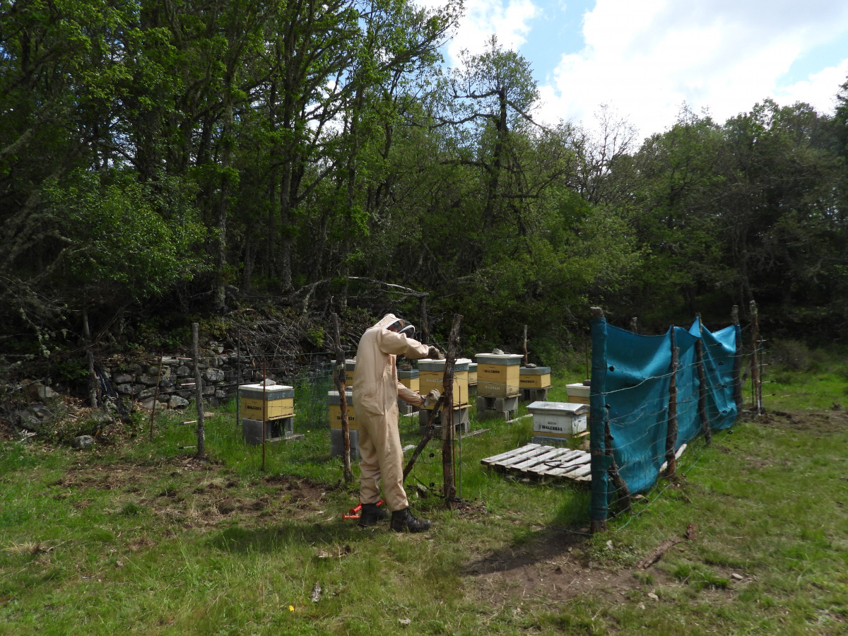
[[[672,327],[661,336],[642,336],[606,321],[592,321],[591,515],[605,518],[611,489],[606,475],[605,418],[610,423],[612,455],[631,494],[644,492],[656,483],[666,460],[672,339],[678,349],[677,416],[675,449],[688,444],[701,431],[698,416],[696,343],[702,342],[706,373],[706,414],[713,429],[727,428],[736,419],[733,395],[736,337],[739,326],[719,332],[702,329],[699,321],[690,329]],[[597,457],[597,459],[596,459]],[[595,480],[598,483],[595,483]]]

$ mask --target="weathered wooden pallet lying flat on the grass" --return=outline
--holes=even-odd
[[[557,446],[527,444],[520,449],[509,450],[494,457],[480,460],[483,466],[507,471],[525,477],[567,479],[572,482],[590,483],[591,455],[585,450],[574,450]]]

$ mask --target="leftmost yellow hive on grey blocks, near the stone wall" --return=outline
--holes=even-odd
[[[242,436],[248,444],[276,441],[294,434],[294,388],[271,380],[243,384],[238,388],[238,416]]]

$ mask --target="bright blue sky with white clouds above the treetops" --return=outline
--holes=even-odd
[[[435,6],[438,0],[419,0]],[[533,67],[538,120],[594,127],[601,105],[648,137],[683,106],[723,123],[772,98],[833,113],[848,79],[845,0],[466,0],[446,64],[495,35]]]

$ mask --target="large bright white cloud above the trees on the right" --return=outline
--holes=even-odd
[[[590,125],[608,103],[648,135],[671,126],[684,102],[719,121],[767,97],[829,110],[848,60],[809,81],[778,82],[802,53],[846,32],[848,3],[598,0],[583,16],[583,50],[563,55],[540,86],[540,114]]]

